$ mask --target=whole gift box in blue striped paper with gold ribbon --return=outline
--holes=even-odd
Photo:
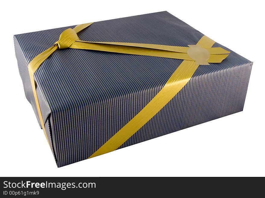
[[[252,67],[166,11],[14,35],[14,45],[58,167],[242,111]]]

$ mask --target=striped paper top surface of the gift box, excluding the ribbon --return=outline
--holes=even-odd
[[[55,43],[62,27],[15,35],[29,63]],[[195,45],[202,33],[163,11],[133,17],[95,22],[78,33],[81,40],[134,42],[170,46]],[[218,43],[213,47],[222,47]],[[249,64],[251,61],[232,52],[222,63],[200,65],[192,78]],[[34,74],[51,111],[130,97],[136,92],[159,90],[182,60],[100,52],[82,49],[56,50]],[[158,88],[158,89],[154,89]],[[148,93],[148,92],[147,92]]]

